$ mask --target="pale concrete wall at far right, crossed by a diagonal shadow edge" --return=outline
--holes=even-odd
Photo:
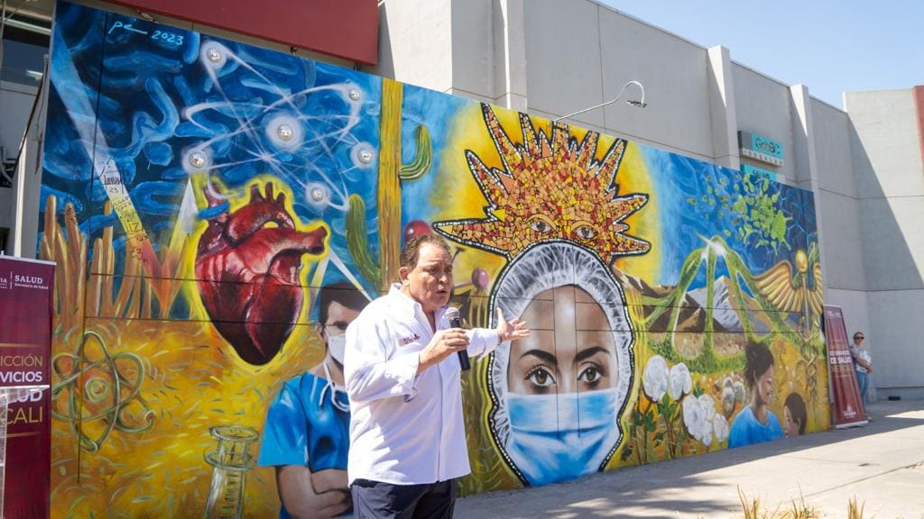
[[[911,90],[845,94],[850,115],[869,340],[881,396],[924,397],[924,168]]]

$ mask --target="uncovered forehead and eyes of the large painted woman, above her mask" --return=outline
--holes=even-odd
[[[616,345],[606,314],[574,285],[541,292],[520,317],[529,338],[510,346],[510,392],[548,394],[615,388]]]

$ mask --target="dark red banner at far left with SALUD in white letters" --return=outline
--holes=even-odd
[[[10,393],[0,416],[6,418],[6,519],[49,513],[54,286],[54,263],[0,257],[0,391]]]

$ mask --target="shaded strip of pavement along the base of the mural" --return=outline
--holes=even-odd
[[[878,402],[869,404],[868,410],[874,420],[861,427],[832,428],[795,439],[626,467],[535,489],[471,496],[458,501],[456,517],[677,519],[740,516],[742,509],[737,496],[737,478],[732,477],[736,465],[924,425],[924,400]],[[722,475],[708,474],[729,468],[733,471]],[[748,469],[743,467],[742,470]],[[789,476],[791,479],[793,475]],[[778,477],[786,478],[784,474]],[[781,481],[781,484],[787,483]],[[795,486],[795,483],[792,485]],[[753,497],[757,496],[748,495],[748,498]],[[810,501],[807,502],[810,504]],[[772,510],[778,503],[762,504]],[[781,503],[780,512],[787,507],[791,509],[791,503]]]

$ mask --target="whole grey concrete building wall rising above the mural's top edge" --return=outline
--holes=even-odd
[[[619,103],[569,120],[733,167],[737,130],[755,131],[783,142],[779,172],[795,184],[789,87],[730,62],[727,51],[711,59],[696,43],[590,0],[386,0],[381,15],[373,73],[552,118],[610,101],[638,80],[644,110],[624,103],[639,97],[630,86]]]

